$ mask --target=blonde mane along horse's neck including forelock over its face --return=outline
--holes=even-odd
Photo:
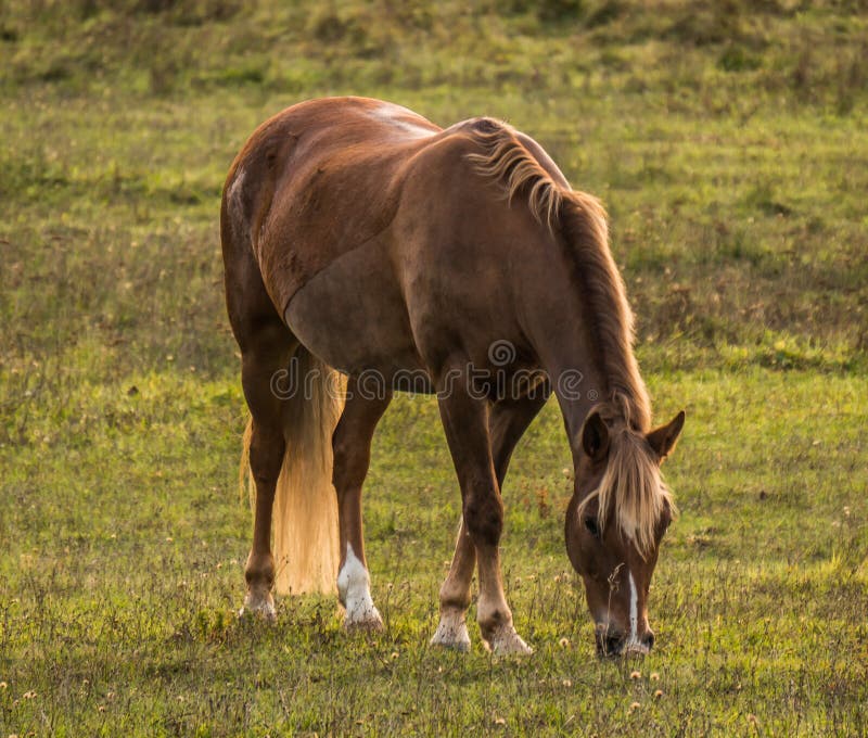
[[[472,132],[482,153],[468,158],[485,177],[502,183],[509,202],[522,195],[532,215],[560,236],[572,253],[577,285],[591,316],[589,330],[608,382],[597,409],[610,429],[609,463],[600,486],[583,506],[599,499],[601,530],[610,509],[625,535],[647,552],[654,527],[672,495],[644,434],[651,427],[651,403],[633,353],[634,319],[624,280],[609,247],[602,203],[586,192],[559,184],[505,123],[484,119]]]

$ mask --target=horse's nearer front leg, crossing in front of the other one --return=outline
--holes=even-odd
[[[500,575],[500,535],[503,530],[503,505],[492,456],[492,438],[488,429],[488,404],[471,397],[458,382],[448,393],[439,397],[441,417],[446,440],[452,455],[458,481],[461,485],[462,529],[476,552],[480,572],[480,598],[476,603],[476,621],[483,639],[495,653],[531,653],[532,649],[521,639],[512,625],[512,611],[507,605]],[[461,533],[459,534],[461,536]],[[469,586],[463,582],[472,574],[472,559],[467,542],[459,537],[456,547],[457,576],[460,595],[451,605],[455,611],[463,610],[469,600]],[[450,572],[450,575],[452,572]],[[444,587],[449,585],[447,577]],[[464,596],[467,591],[467,596]],[[442,602],[444,601],[442,593]],[[447,616],[449,593],[446,593]],[[443,623],[443,620],[442,620]],[[447,621],[444,627],[448,627]],[[439,631],[439,628],[438,628]],[[459,639],[462,639],[459,627]],[[441,641],[443,642],[443,641]],[[451,644],[450,644],[451,645]],[[460,646],[460,642],[454,645]]]

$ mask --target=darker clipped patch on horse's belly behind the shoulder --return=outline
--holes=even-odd
[[[284,315],[295,336],[316,356],[349,374],[430,391],[404,296],[385,250],[376,241],[355,249],[307,281]]]

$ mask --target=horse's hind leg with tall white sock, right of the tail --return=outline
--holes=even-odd
[[[337,593],[346,609],[347,628],[379,629],[383,626],[380,612],[371,599],[370,577],[365,560],[361,525],[361,485],[371,460],[371,440],[376,423],[392,399],[392,392],[369,397],[359,391],[350,378],[341,420],[334,431],[334,488],[341,524],[341,567]]]

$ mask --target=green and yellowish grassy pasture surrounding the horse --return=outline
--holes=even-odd
[[[866,39],[864,0],[0,3],[0,736],[868,731]],[[505,488],[532,659],[427,648],[459,497],[420,398],[366,498],[386,632],[235,620],[219,193],[339,93],[502,117],[604,199],[658,419],[689,417],[643,663],[593,658],[553,405]]]

